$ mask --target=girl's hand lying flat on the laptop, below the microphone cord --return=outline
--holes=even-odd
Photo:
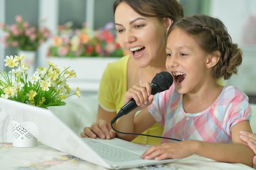
[[[179,141],[151,146],[141,155],[142,159],[181,159],[195,154],[196,141]]]

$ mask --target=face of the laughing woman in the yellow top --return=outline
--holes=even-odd
[[[139,67],[166,58],[166,24],[155,17],[144,17],[121,2],[115,11],[115,26],[121,47]]]

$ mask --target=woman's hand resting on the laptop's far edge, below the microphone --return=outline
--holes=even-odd
[[[111,139],[116,136],[116,133],[107,121],[100,119],[92,123],[91,127],[83,128],[83,132],[80,133],[80,136],[94,139],[98,136],[101,139]]]

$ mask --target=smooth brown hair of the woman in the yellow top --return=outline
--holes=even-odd
[[[184,16],[183,7],[177,0],[115,0],[113,11],[117,6],[125,2],[135,12],[145,17],[171,18],[173,21]]]

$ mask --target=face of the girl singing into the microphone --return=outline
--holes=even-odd
[[[198,91],[211,77],[206,68],[206,56],[192,36],[176,28],[168,36],[166,68],[173,76],[175,88],[181,94]]]

